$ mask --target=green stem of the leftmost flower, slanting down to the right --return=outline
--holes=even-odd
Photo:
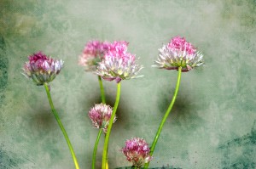
[[[75,165],[76,169],[79,169],[79,162],[78,162],[78,160],[76,158],[76,155],[74,154],[72,144],[70,143],[70,140],[69,140],[69,138],[67,136],[67,132],[66,132],[65,128],[63,127],[62,123],[61,123],[61,119],[60,119],[57,111],[55,110],[55,106],[54,106],[54,104],[52,102],[52,99],[50,97],[48,84],[44,83],[44,87],[45,87],[45,90],[46,90],[46,93],[47,93],[47,96],[48,96],[48,99],[49,99],[49,105],[50,105],[50,108],[52,110],[52,113],[55,115],[55,119],[58,122],[59,126],[61,127],[61,132],[63,133],[63,135],[64,135],[64,137],[65,137],[65,139],[67,141],[68,148],[69,148],[69,150],[71,152],[71,155],[73,157],[74,165]]]

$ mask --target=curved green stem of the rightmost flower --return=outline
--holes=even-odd
[[[172,102],[169,105],[168,109],[166,110],[166,114],[164,115],[164,117],[163,117],[163,119],[162,119],[162,121],[160,123],[160,127],[158,128],[158,131],[156,132],[156,135],[154,137],[154,142],[153,142],[152,146],[150,147],[150,155],[153,155],[153,153],[154,153],[154,148],[155,148],[155,145],[156,145],[156,143],[158,141],[158,138],[160,136],[160,132],[162,131],[162,128],[163,128],[163,126],[164,126],[164,124],[166,122],[166,119],[167,119],[168,115],[170,114],[170,112],[172,110],[172,106],[173,106],[173,104],[174,104],[174,102],[176,100],[177,91],[178,91],[179,84],[180,84],[181,72],[182,72],[182,67],[178,67],[177,83],[176,83],[175,92],[174,92],[173,97],[172,97]],[[144,165],[144,168],[147,169],[148,166],[149,166],[149,162]]]

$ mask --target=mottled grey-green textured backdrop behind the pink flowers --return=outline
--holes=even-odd
[[[255,0],[0,0],[0,168],[73,168],[44,87],[20,74],[38,50],[65,61],[52,97],[81,168],[90,168],[97,130],[87,112],[100,93],[78,59],[91,39],[130,42],[145,67],[143,78],[122,82],[110,138],[110,168],[129,166],[119,151],[125,139],[151,143],[172,99],[177,71],[151,65],[177,35],[200,48],[206,65],[182,74],[151,166],[256,168]],[[104,86],[113,105],[115,82]],[[98,166],[101,153],[102,142]]]

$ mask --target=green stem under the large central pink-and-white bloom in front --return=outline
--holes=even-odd
[[[109,140],[111,128],[112,128],[112,125],[113,125],[114,115],[115,115],[116,110],[117,110],[118,105],[119,105],[120,91],[121,91],[121,83],[119,82],[117,84],[117,92],[116,92],[115,103],[114,103],[114,106],[113,106],[113,112],[112,112],[112,115],[111,115],[111,118],[110,118],[109,124],[108,124],[108,132],[106,134],[106,138],[105,138],[105,141],[104,141],[104,147],[103,147],[103,153],[102,153],[102,169],[106,169],[106,163],[108,161],[108,140]]]

